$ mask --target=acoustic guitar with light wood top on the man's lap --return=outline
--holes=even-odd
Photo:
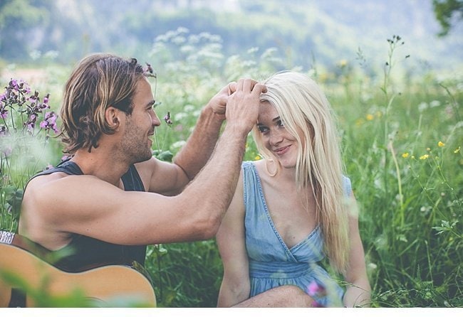
[[[28,242],[21,235],[0,231],[0,307],[18,306],[21,296],[25,307],[49,305],[40,301],[44,295],[48,299],[85,299],[76,304],[79,306],[156,306],[150,276],[137,262],[64,272],[43,260],[43,250],[32,251]]]

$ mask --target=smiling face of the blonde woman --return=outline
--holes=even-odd
[[[278,159],[283,168],[294,168],[298,155],[296,138],[284,127],[278,112],[269,102],[261,102],[257,129],[266,149]]]

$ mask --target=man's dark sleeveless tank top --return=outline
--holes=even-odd
[[[55,168],[42,171],[36,176],[57,172],[83,175],[76,163],[64,161]],[[122,181],[126,191],[145,191],[140,175],[133,165],[122,176]],[[117,231],[118,228],[114,230]],[[63,249],[66,249],[66,252],[63,252]],[[130,264],[134,260],[142,265],[145,264],[146,245],[115,245],[85,235],[72,234],[71,242],[63,249],[57,250],[56,253],[68,254],[70,252],[71,254],[62,257],[54,265],[67,272],[79,272],[100,265]]]

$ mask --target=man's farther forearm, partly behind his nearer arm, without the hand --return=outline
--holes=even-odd
[[[174,163],[184,170],[190,180],[209,160],[223,122],[223,118],[214,114],[211,107],[204,107],[187,143],[175,156]]]

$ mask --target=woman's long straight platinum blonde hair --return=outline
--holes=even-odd
[[[331,106],[316,82],[301,73],[278,72],[262,83],[267,92],[261,95],[261,102],[275,107],[284,127],[297,140],[297,188],[301,193],[307,188],[313,190],[316,220],[321,225],[328,259],[334,269],[345,272],[349,252],[348,217],[339,137]],[[264,147],[257,127],[253,129],[253,136],[264,159],[277,162]],[[279,168],[277,165],[277,173]]]

